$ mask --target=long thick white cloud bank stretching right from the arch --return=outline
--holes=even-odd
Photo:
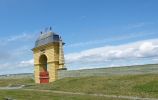
[[[104,46],[65,55],[66,63],[101,63],[114,60],[158,57],[158,39]]]

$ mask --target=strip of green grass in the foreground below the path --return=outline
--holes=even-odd
[[[0,100],[9,97],[16,100],[127,100],[119,98],[96,97],[89,95],[68,95],[48,92],[33,92],[24,90],[4,90],[0,91]]]

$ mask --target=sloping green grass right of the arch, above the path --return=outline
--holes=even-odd
[[[64,78],[27,88],[158,98],[158,74]]]

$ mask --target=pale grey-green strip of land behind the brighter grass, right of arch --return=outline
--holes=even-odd
[[[158,64],[135,65],[111,68],[94,68],[84,70],[61,70],[59,78],[65,77],[87,77],[87,76],[116,76],[116,75],[138,75],[157,74]]]

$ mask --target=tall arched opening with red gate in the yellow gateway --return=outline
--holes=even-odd
[[[47,56],[41,55],[39,58],[39,76],[40,76],[40,83],[49,83],[49,73],[47,71]]]

